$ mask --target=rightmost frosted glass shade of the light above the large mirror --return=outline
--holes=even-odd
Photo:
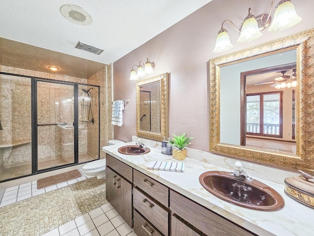
[[[286,1],[277,7],[268,31],[288,29],[299,24],[301,20],[302,18],[296,14],[294,5],[290,1]]]

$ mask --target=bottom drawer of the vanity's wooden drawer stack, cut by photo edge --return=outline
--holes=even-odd
[[[136,210],[134,212],[134,233],[137,236],[161,236]]]

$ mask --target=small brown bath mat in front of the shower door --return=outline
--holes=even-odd
[[[57,183],[62,183],[71,179],[82,177],[82,173],[76,169],[55,176],[40,178],[37,180],[37,189],[46,188]]]

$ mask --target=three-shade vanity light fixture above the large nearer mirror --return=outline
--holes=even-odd
[[[274,13],[274,19],[272,21],[270,13],[273,8],[274,1],[275,0],[272,0],[268,14],[262,13],[261,15],[255,17],[252,14],[252,9],[249,8],[248,15],[245,17],[244,23],[240,29],[237,29],[232,21],[225,20],[221,24],[221,29],[218,31],[216,46],[213,52],[221,53],[234,47],[230,42],[227,30],[223,27],[225,22],[229,22],[236,29],[236,31],[240,33],[240,36],[237,39],[238,43],[249,42],[261,37],[261,31],[267,29],[268,27],[268,31],[279,31],[291,28],[301,22],[302,18],[297,15],[291,0],[280,0],[278,2],[277,9]]]

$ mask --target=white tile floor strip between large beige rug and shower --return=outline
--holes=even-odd
[[[81,172],[81,170],[80,170]],[[85,176],[82,173],[82,177],[78,177],[72,180],[69,180],[67,182],[62,182],[62,183],[58,183],[43,189],[37,189],[37,180],[36,181],[32,181],[32,182],[28,182],[28,183],[24,183],[21,185],[17,185],[17,186],[13,186],[10,188],[5,189],[2,199],[1,199],[1,194],[0,194],[0,207],[4,207],[7,206],[9,204],[12,203],[16,203],[22,200],[25,200],[27,198],[30,198],[32,196],[37,196],[43,193],[47,193],[50,192],[52,190],[58,189],[58,188],[62,188],[65,186],[68,186],[70,184],[73,183],[77,183],[79,181],[83,181],[86,180],[87,178],[91,178],[93,176]]]

